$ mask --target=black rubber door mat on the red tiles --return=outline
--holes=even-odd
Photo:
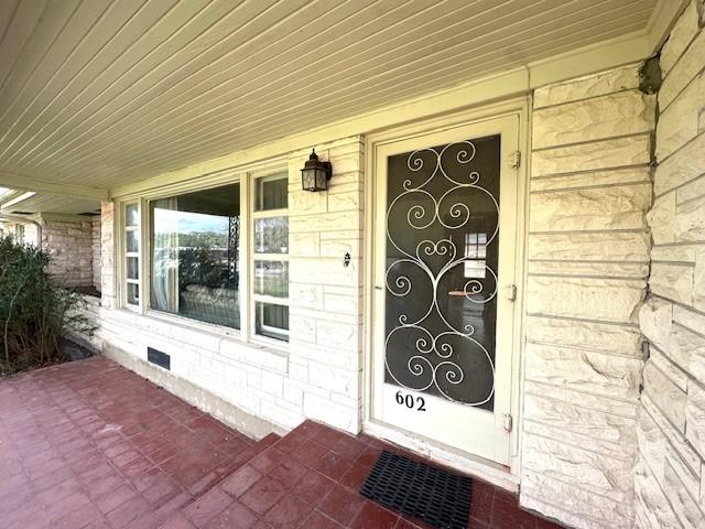
[[[384,450],[360,494],[438,529],[465,529],[470,515],[471,483],[469,477]]]

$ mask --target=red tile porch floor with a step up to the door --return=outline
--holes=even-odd
[[[254,442],[89,358],[0,381],[0,527],[423,527],[357,493],[383,447],[311,421]],[[479,479],[471,506],[473,529],[558,527]]]

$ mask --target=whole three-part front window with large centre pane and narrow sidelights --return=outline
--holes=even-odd
[[[123,306],[289,342],[289,175],[245,176],[122,203]]]

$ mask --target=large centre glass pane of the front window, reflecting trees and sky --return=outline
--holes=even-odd
[[[240,185],[150,204],[153,309],[240,327]]]

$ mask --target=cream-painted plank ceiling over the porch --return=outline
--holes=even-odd
[[[111,188],[643,30],[657,0],[1,0],[0,172]]]

